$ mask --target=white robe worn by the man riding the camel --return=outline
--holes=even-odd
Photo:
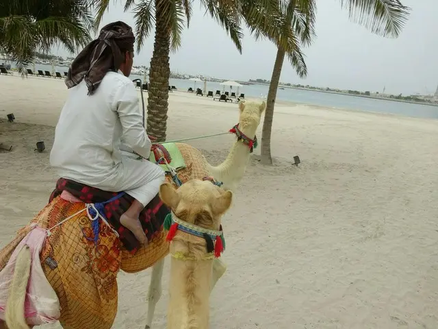
[[[50,164],[62,178],[103,191],[125,191],[144,206],[157,195],[164,171],[120,152],[121,141],[149,158],[151,141],[132,81],[108,72],[94,95],[85,81],[68,90],[55,129]]]

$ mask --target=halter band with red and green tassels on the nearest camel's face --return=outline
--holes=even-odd
[[[225,239],[222,232],[222,225],[218,231],[201,228],[201,226],[196,226],[192,223],[188,223],[187,221],[179,219],[175,213],[171,211],[170,214],[166,216],[166,219],[164,219],[164,229],[168,230],[166,241],[169,242],[173,240],[175,234],[177,234],[177,230],[205,239],[205,242],[207,243],[207,256],[203,259],[210,259],[209,257],[213,256],[213,252],[214,257],[219,258],[220,254],[222,254],[225,249]],[[181,255],[185,257],[185,255]],[[174,258],[182,259],[181,255],[178,256],[175,254],[173,256]],[[184,259],[192,260],[188,258]]]

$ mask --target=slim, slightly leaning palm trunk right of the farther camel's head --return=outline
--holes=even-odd
[[[276,90],[279,88],[281,69],[285,60],[285,51],[279,47],[276,52],[274,69],[272,70],[271,82],[269,84],[268,99],[266,103],[265,119],[261,133],[261,163],[272,164],[271,156],[271,130],[272,119],[274,119],[274,106]]]

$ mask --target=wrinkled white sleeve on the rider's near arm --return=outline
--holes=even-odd
[[[114,95],[113,108],[118,113],[122,124],[121,140],[143,158],[149,158],[152,143],[143,127],[143,116],[133,84],[120,83]]]

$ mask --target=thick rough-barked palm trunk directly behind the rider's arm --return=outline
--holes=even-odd
[[[166,16],[159,12],[162,6],[157,5],[160,0],[155,0],[155,43],[151,58],[151,69],[149,71],[149,96],[148,96],[148,119],[146,131],[149,135],[157,138],[158,142],[166,141],[167,111],[169,98],[169,52],[170,36]]]

